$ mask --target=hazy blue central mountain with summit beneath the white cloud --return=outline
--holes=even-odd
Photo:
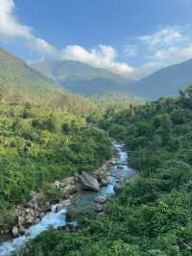
[[[104,68],[75,61],[40,62],[31,66],[75,93],[90,96],[108,92],[129,92],[127,79]]]

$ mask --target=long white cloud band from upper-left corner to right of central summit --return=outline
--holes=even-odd
[[[21,24],[15,13],[13,0],[0,0],[0,40],[21,38],[25,45],[40,54],[40,59],[54,58],[74,60],[95,67],[107,68],[115,73],[131,77],[134,69],[129,64],[118,63],[117,53],[109,45],[99,45],[90,51],[79,45],[65,46],[61,51],[45,41],[37,38],[31,27]]]

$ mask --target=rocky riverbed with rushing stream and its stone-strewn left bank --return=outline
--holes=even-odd
[[[0,256],[9,256],[12,251],[23,248],[50,226],[76,231],[76,213],[82,210],[90,209],[99,215],[104,213],[108,196],[121,192],[125,182],[135,174],[128,166],[128,154],[123,145],[116,141],[112,143],[116,154],[104,166],[91,174],[83,172],[51,185],[60,189],[60,199],[42,200],[40,192],[32,192],[31,200],[25,206],[15,207],[16,222],[7,229],[15,239],[9,237],[9,241],[0,243]]]

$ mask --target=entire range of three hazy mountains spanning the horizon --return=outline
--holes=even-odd
[[[156,100],[177,95],[192,85],[192,60],[156,71],[139,81],[129,81],[107,69],[73,61],[41,62],[29,66],[0,47],[0,89],[20,91],[65,90],[86,96],[111,93]],[[12,92],[11,92],[12,93]]]

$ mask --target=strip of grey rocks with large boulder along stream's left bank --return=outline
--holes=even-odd
[[[46,213],[52,211],[53,206],[55,207],[54,211],[59,212],[63,208],[63,204],[67,200],[73,200],[78,193],[83,191],[98,192],[101,186],[107,186],[108,167],[115,165],[116,158],[117,156],[114,155],[103,166],[90,173],[83,172],[73,177],[57,180],[41,192],[31,192],[30,201],[25,205],[15,206],[15,222],[7,233],[11,233],[13,237],[28,234],[29,227],[39,222]]]

